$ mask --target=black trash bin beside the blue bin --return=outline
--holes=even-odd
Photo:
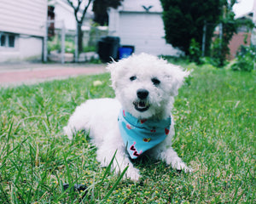
[[[119,59],[119,37],[102,37],[98,42],[98,54],[103,62]]]

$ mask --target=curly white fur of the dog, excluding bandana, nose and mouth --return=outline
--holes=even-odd
[[[174,96],[182,86],[184,77],[189,76],[189,71],[183,71],[179,66],[149,54],[132,55],[127,59],[109,64],[107,69],[111,72],[116,99],[87,100],[76,108],[67,127],[64,127],[64,132],[69,139],[73,139],[74,133],[79,130],[90,131],[92,143],[97,148],[96,159],[102,167],[108,166],[117,150],[113,171],[119,173],[129,166],[126,177],[137,181],[140,178],[139,171],[133,167],[119,133],[119,110],[123,108],[132,116],[141,119],[165,119],[170,116]],[[135,102],[140,100],[137,95],[139,89],[148,91],[147,99],[143,99],[147,105],[145,111],[135,107]],[[172,120],[170,133],[166,139],[148,150],[148,153],[156,159],[166,161],[173,168],[189,172],[191,169],[172,149],[173,126]]]

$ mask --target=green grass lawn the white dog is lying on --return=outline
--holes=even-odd
[[[77,105],[114,96],[108,74],[1,88],[0,203],[255,203],[255,72],[184,66],[194,72],[176,98],[173,147],[194,173],[144,156],[142,181],[122,181],[86,133],[63,135]]]

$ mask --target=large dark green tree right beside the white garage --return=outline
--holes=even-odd
[[[166,42],[189,55],[192,39],[201,46],[203,27],[207,23],[206,53],[209,54],[212,33],[219,23],[225,0],[160,0]]]

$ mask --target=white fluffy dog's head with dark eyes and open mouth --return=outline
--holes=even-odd
[[[108,65],[117,99],[137,118],[167,116],[173,96],[189,75],[176,65],[153,55],[132,55]],[[166,115],[167,114],[167,115]]]

